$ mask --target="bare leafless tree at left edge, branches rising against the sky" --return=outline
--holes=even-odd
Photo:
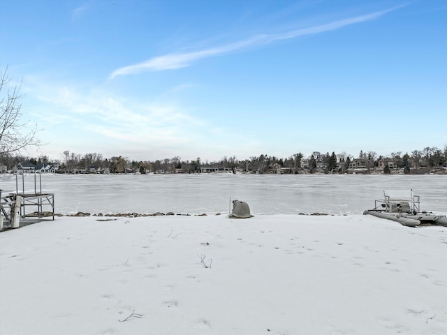
[[[39,146],[36,138],[37,129],[27,129],[27,122],[22,122],[23,98],[20,94],[22,85],[9,87],[8,68],[0,73],[0,156],[17,154],[22,149]]]

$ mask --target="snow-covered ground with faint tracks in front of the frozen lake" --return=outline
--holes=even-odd
[[[0,233],[0,334],[447,332],[444,227],[353,214],[98,219]]]

